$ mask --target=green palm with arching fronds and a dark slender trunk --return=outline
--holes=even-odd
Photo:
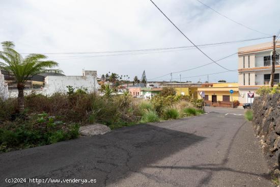
[[[2,42],[3,51],[0,51],[0,68],[13,73],[18,89],[18,111],[24,111],[23,89],[27,79],[33,75],[44,72],[62,72],[59,69],[48,69],[58,66],[54,61],[43,61],[47,57],[41,54],[30,54],[25,59],[14,49],[11,41]]]

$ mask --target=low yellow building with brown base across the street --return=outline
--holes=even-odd
[[[233,90],[234,93],[231,94],[230,90]],[[230,103],[238,100],[239,96],[238,83],[203,84],[202,87],[198,88],[197,95],[199,99],[201,99],[201,91],[204,91],[204,100],[208,105],[230,106]]]

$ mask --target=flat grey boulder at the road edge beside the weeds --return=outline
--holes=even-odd
[[[104,133],[107,133],[109,131],[111,131],[111,129],[108,126],[98,123],[93,125],[81,126],[79,129],[80,135],[86,137],[91,137],[93,135],[104,135]]]

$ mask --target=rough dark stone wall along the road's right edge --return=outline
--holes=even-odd
[[[253,103],[253,127],[260,138],[269,168],[279,176],[280,94],[256,97]]]

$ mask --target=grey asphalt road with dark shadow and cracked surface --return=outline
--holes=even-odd
[[[3,153],[0,186],[273,186],[251,124],[234,114],[212,111]],[[38,185],[28,178],[96,183]]]

